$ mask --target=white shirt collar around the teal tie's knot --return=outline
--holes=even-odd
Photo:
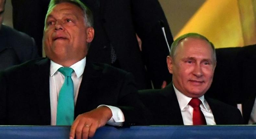
[[[70,68],[72,68],[75,71],[77,78],[79,78],[84,73],[85,64],[86,64],[86,57],[70,66]],[[63,66],[60,64],[57,64],[51,60],[51,66],[50,66],[51,77],[61,67],[63,67]]]

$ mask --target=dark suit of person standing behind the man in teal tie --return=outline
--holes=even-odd
[[[165,62],[169,50],[161,27],[165,27],[169,44],[173,42],[173,38],[157,0],[81,1],[94,15],[95,37],[90,45],[87,60],[111,64],[112,46],[118,61],[115,66],[133,73],[138,89],[151,88],[150,80],[155,88],[160,88],[163,80],[170,82],[171,74]],[[49,0],[12,0],[14,28],[38,38],[37,44],[40,43],[40,46],[40,30],[43,30],[48,3]],[[142,40],[142,52],[136,33]]]

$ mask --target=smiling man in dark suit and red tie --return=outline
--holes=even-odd
[[[161,90],[140,91],[141,100],[152,112],[150,124],[242,124],[237,108],[204,97],[216,66],[215,48],[206,37],[189,33],[177,38],[167,65],[172,83]],[[193,106],[195,100],[198,107]]]

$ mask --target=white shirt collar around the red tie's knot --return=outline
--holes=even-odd
[[[188,103],[191,101],[192,98],[190,98],[190,97],[184,95],[183,93],[181,93],[178,89],[175,88],[174,85],[173,85],[173,88],[174,88],[175,94],[177,96],[179,105],[180,105],[180,110],[182,111],[185,107],[188,107]],[[208,105],[205,104],[204,95],[202,97],[199,97],[198,99],[202,102],[202,104],[204,106],[203,108],[207,112],[209,112],[209,107],[208,107]]]

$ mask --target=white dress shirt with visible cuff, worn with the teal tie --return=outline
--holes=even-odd
[[[86,65],[86,57],[76,62],[72,66],[70,66],[70,68],[72,68],[75,71],[71,75],[71,78],[74,83],[74,103],[75,103],[74,105],[76,105],[76,100],[79,92],[79,87],[82,81],[85,65]],[[58,69],[61,67],[63,66],[51,60],[51,66],[50,66],[51,125],[56,125],[58,97],[65,79],[64,75],[58,71]],[[108,105],[105,105],[105,106],[108,106]],[[114,106],[108,106],[108,107],[111,109],[113,116],[107,122],[107,124],[122,126],[122,123],[124,122],[124,115],[122,111],[118,107],[114,107]]]

